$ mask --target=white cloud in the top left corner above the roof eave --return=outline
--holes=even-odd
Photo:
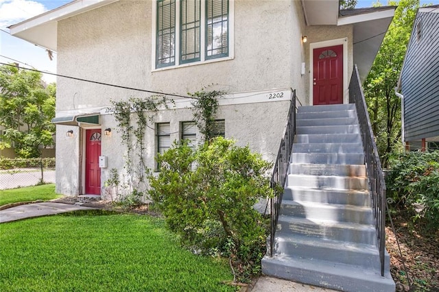
[[[32,0],[0,0],[0,28],[4,29],[46,11],[43,4]]]

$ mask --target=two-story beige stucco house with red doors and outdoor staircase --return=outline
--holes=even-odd
[[[373,139],[361,136],[368,116],[357,118],[361,82],[394,9],[340,11],[338,0],[75,0],[10,31],[58,54],[57,192],[105,197],[111,169],[121,184],[139,186],[143,169],[126,169],[131,154],[112,102],[156,93],[174,100],[144,129],[145,167],[158,171],[154,158],[171,141],[200,138],[187,93],[219,90],[217,134],[275,162],[275,183],[285,186],[283,199],[271,201],[263,273],[394,291],[382,186],[377,198],[382,172],[369,160]]]

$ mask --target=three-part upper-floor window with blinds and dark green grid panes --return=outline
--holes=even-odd
[[[156,69],[230,57],[230,26],[229,0],[156,0]]]

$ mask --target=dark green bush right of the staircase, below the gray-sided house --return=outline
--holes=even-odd
[[[439,228],[439,151],[407,152],[390,160],[388,197],[421,228]]]

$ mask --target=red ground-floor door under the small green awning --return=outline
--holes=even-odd
[[[86,130],[85,143],[85,193],[87,195],[101,194],[101,130]]]

